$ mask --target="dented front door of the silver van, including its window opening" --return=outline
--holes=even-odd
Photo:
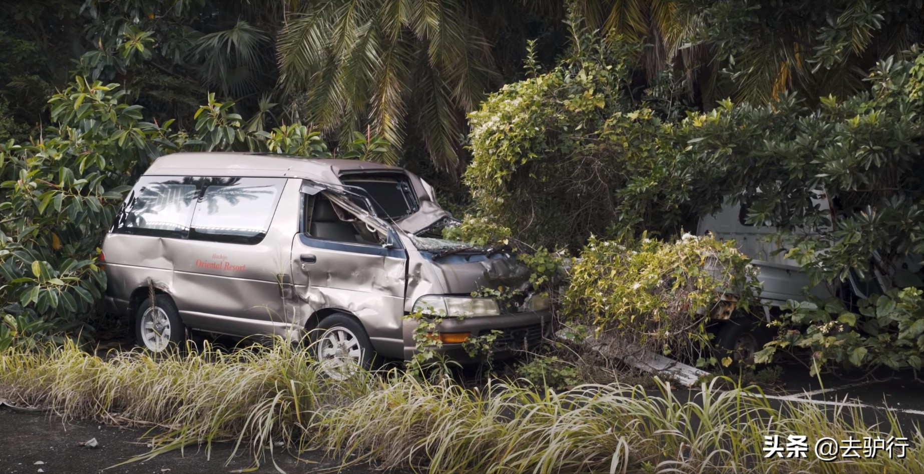
[[[395,231],[344,196],[302,194],[302,231],[292,243],[292,279],[313,314],[355,315],[373,348],[403,357],[407,252]]]

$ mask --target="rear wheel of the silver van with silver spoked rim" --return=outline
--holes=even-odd
[[[179,317],[176,303],[165,294],[154,295],[141,302],[135,314],[136,342],[152,352],[164,352],[180,347],[186,338],[186,326]]]

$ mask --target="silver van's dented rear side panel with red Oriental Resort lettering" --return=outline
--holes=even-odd
[[[219,243],[111,233],[103,243],[107,293],[128,309],[129,295],[150,283],[176,302],[192,328],[248,336],[284,334],[298,318],[286,302],[289,242],[298,232],[298,185],[286,180],[261,243]]]

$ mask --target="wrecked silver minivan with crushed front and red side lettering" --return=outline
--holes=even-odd
[[[440,351],[492,330],[498,355],[548,334],[547,300],[504,249],[445,241],[455,222],[418,176],[358,160],[176,153],[155,160],[103,242],[106,302],[152,351],[188,331],[317,338],[322,360],[407,360],[436,308]],[[507,304],[472,293],[522,290]],[[152,302],[153,298],[153,302]],[[457,316],[457,317],[456,317]],[[318,330],[318,331],[315,331]]]

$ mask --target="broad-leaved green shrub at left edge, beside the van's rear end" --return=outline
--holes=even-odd
[[[0,305],[19,327],[5,340],[29,333],[21,318],[92,331],[84,323],[106,285],[98,246],[166,132],[117,88],[78,77],[49,101],[55,125],[41,139],[0,145]]]

